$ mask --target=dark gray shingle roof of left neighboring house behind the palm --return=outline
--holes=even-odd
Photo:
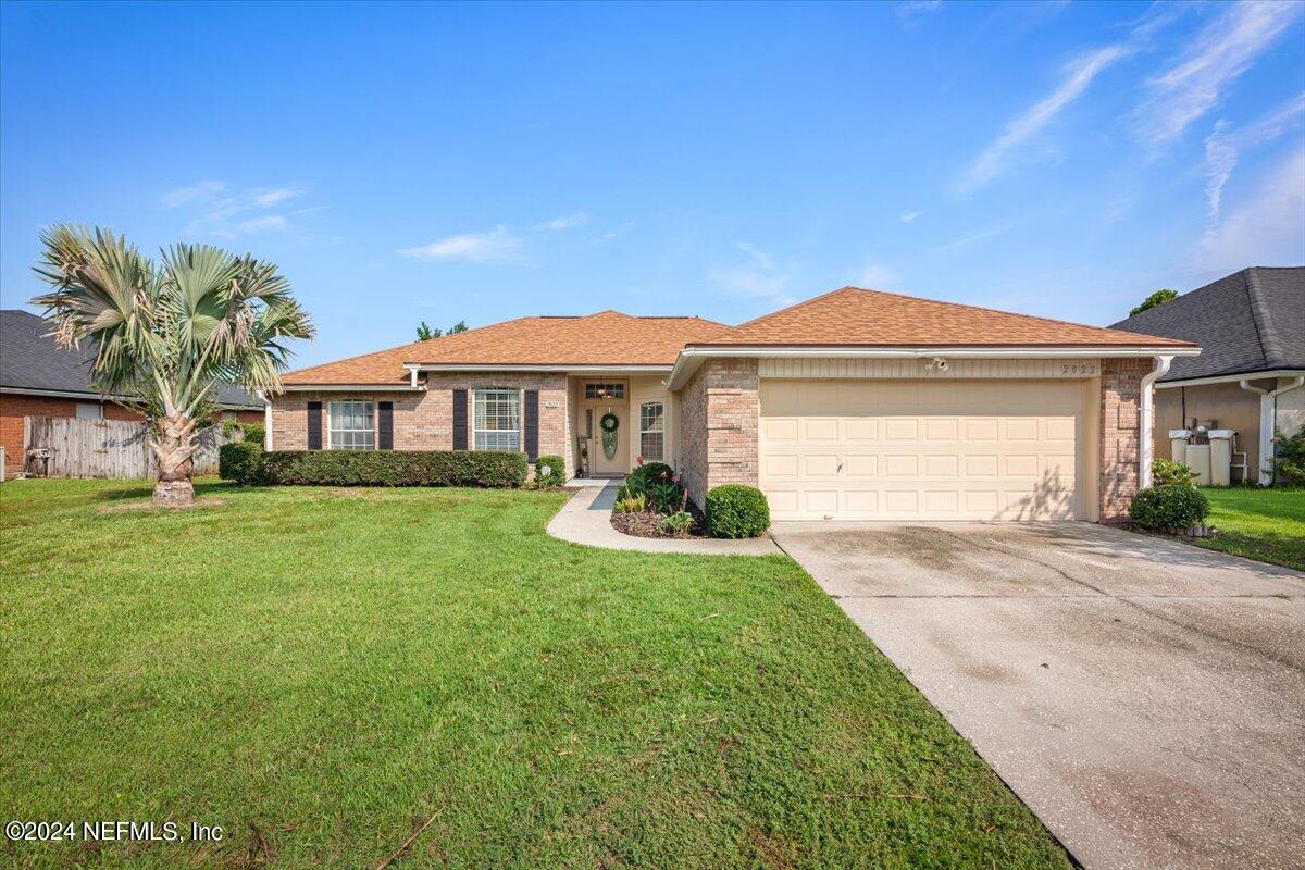
[[[94,351],[64,351],[46,333],[50,323],[30,312],[0,310],[0,390],[48,390],[99,397],[90,385]],[[218,385],[222,407],[261,408],[258,397],[230,383]]]

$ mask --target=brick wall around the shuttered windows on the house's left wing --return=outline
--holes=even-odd
[[[322,403],[322,445],[328,443],[330,425],[326,403],[342,399],[367,399],[394,403],[395,450],[453,450],[453,391],[467,390],[467,443],[474,445],[474,395],[478,387],[509,387],[539,391],[539,453],[561,457],[566,475],[576,471],[572,440],[566,434],[570,397],[566,376],[561,373],[495,374],[495,373],[431,373],[425,391],[295,391],[271,400],[271,446],[274,450],[308,449],[308,403]],[[552,407],[549,407],[552,406]],[[522,449],[525,449],[525,404],[521,411]]]

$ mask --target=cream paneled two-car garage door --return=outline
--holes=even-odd
[[[1083,381],[763,380],[774,519],[1082,519]]]

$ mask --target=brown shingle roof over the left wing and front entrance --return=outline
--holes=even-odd
[[[438,365],[673,365],[689,342],[728,329],[701,317],[630,317],[607,310],[586,317],[519,317],[455,335],[414,342],[291,372],[292,386],[401,385],[405,363]]]

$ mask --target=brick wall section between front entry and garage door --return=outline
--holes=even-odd
[[[757,485],[757,360],[710,359],[680,394],[680,472],[702,505],[720,484]]]

